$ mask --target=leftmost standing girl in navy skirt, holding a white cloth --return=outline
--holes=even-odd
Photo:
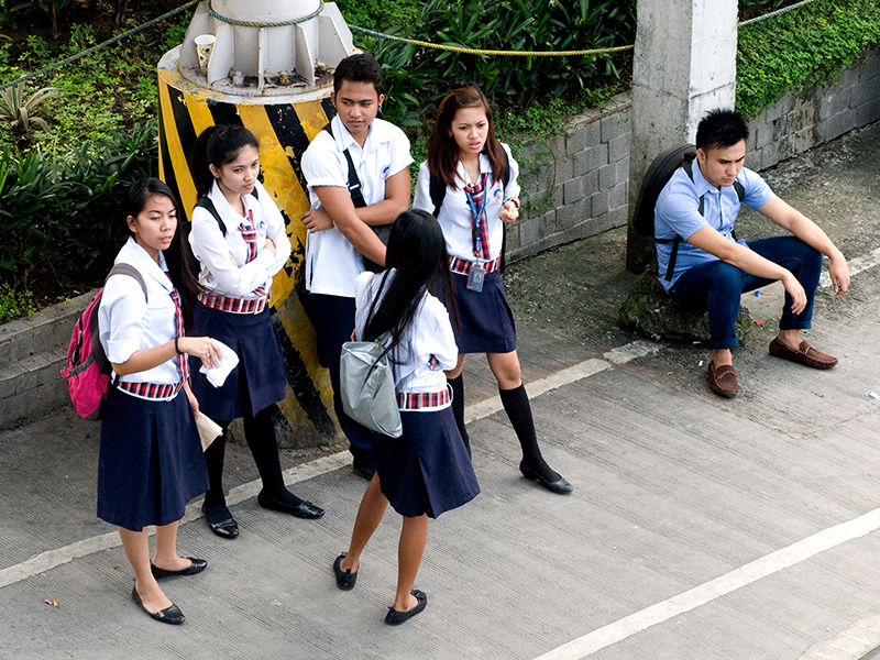
[[[119,527],[134,569],[134,602],[156,620],[183,624],[184,615],[156,580],[194,575],[207,565],[177,554],[186,505],[208,487],[187,355],[217,366],[220,346],[184,333],[193,327],[197,284],[170,189],[155,178],[135,183],[125,227],[129,240],[116,263],[134,267],[143,287],[133,275],[113,275],[99,309],[99,338],[118,382],[101,422],[98,517]],[[152,561],[148,525],[156,526]]]

